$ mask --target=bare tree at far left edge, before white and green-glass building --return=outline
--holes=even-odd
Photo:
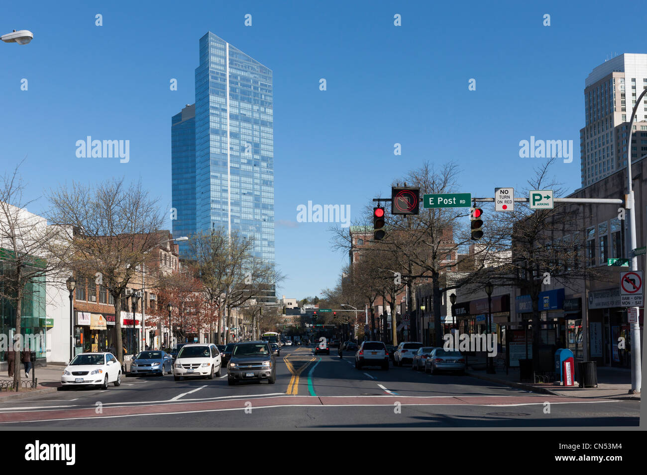
[[[74,259],[74,249],[65,241],[69,229],[49,226],[45,218],[27,211],[31,202],[23,200],[25,185],[19,166],[0,183],[0,299],[9,302],[16,313],[16,344],[8,342],[16,352],[30,351],[21,330],[23,304],[32,308],[38,294],[39,301],[47,299],[46,284],[62,288]],[[16,368],[14,389],[20,386],[20,375]]]

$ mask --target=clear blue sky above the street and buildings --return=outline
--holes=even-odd
[[[72,179],[126,176],[170,206],[171,116],[195,101],[198,40],[210,30],[274,72],[276,262],[288,275],[279,295],[319,293],[347,261],[331,250],[329,224],[296,223],[309,200],[349,204],[356,218],[425,160],[458,162],[456,191],[523,187],[540,162],[519,157],[531,135],[573,140],[573,163],[554,173],[579,187],[584,79],[613,54],[645,52],[635,46],[644,15],[614,16],[595,1],[401,4],[5,2],[0,34],[25,28],[34,40],[0,44],[1,170],[27,157],[27,199]],[[129,163],[77,158],[88,135],[129,140]]]

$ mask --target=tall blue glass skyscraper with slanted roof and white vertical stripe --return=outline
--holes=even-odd
[[[171,125],[173,235],[236,230],[274,262],[272,94],[269,68],[211,32],[200,39],[195,105]]]

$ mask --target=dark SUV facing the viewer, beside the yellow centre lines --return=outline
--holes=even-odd
[[[276,383],[276,359],[267,341],[237,343],[227,365],[230,386],[240,381],[262,381]]]

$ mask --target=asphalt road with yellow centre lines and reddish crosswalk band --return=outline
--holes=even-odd
[[[356,370],[353,355],[283,347],[276,383],[126,377],[0,403],[3,428],[637,427],[639,401],[547,396],[411,366]],[[97,420],[100,419],[100,420]]]

